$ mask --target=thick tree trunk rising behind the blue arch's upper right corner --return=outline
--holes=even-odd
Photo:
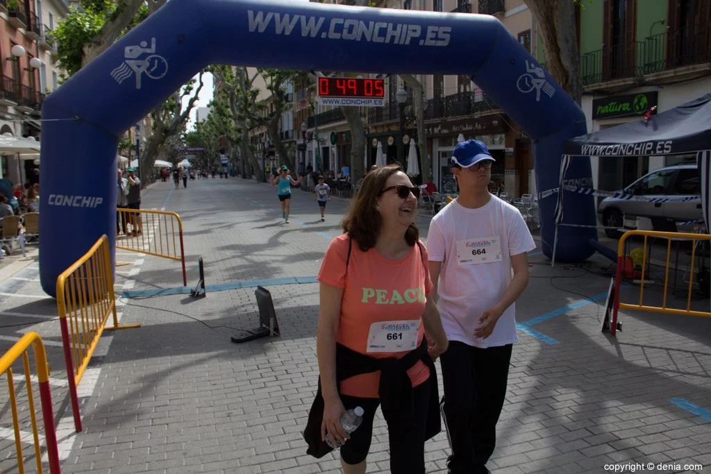
[[[580,58],[572,0],[524,0],[543,40],[545,68],[575,102],[580,104]]]

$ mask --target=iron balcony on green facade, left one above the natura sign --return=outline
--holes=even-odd
[[[585,53],[580,56],[582,85],[641,77],[644,72],[645,44],[634,41]]]

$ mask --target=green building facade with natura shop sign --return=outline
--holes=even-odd
[[[711,90],[711,2],[601,0],[577,11],[589,132],[664,112]],[[538,59],[545,62],[540,38]],[[695,156],[593,157],[594,188],[619,190]]]

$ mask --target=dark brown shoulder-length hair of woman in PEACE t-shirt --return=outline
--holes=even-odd
[[[385,188],[387,179],[398,171],[404,172],[405,170],[398,164],[371,169],[363,178],[360,190],[353,198],[351,207],[348,208],[346,217],[341,222],[348,237],[358,242],[358,248],[363,252],[368,252],[369,249],[375,247],[375,241],[380,235],[380,227],[383,226],[383,217],[380,217],[380,212],[375,209],[378,195]],[[414,223],[410,224],[410,227],[407,227],[407,231],[405,231],[405,241],[412,247],[418,239],[419,229]]]

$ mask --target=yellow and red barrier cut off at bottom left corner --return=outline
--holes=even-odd
[[[42,419],[44,423],[44,439],[49,459],[49,470],[52,474],[61,472],[59,465],[59,452],[57,448],[57,433],[54,428],[54,414],[52,409],[52,394],[49,387],[49,365],[47,355],[42,343],[42,338],[37,333],[27,333],[21,340],[18,340],[10,350],[0,357],[0,375],[7,375],[7,384],[10,395],[10,409],[12,411],[12,424],[15,431],[15,453],[17,457],[17,472],[25,472],[25,460],[22,454],[23,437],[20,431],[20,419],[17,410],[17,396],[15,393],[15,382],[13,379],[12,365],[22,357],[25,372],[25,385],[27,387],[27,402],[32,425],[32,438],[35,448],[35,461],[37,472],[42,473],[42,452],[40,448],[40,434],[37,427],[37,414],[35,411],[35,401],[32,395],[32,384],[30,375],[30,361],[27,355],[28,348],[32,346],[35,354],[35,365],[37,367],[37,379],[39,381],[40,402],[42,407]],[[27,436],[25,436],[25,441]]]

